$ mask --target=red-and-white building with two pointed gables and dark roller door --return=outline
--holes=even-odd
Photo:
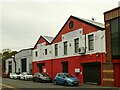
[[[40,37],[33,48],[32,73],[59,72],[75,75],[80,83],[103,84],[102,64],[106,62],[104,24],[70,16],[56,37]]]

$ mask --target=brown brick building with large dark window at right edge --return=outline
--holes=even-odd
[[[104,13],[106,29],[106,63],[104,85],[120,87],[120,6]]]

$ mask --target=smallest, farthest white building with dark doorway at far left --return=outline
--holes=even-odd
[[[5,73],[15,73],[15,60],[14,57],[8,58],[5,61],[6,63],[6,68],[5,68]]]

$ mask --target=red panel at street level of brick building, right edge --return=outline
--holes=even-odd
[[[115,86],[120,87],[120,63],[114,64]]]

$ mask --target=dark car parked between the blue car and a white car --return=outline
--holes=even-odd
[[[52,79],[46,73],[37,72],[33,76],[33,82],[52,82]]]

